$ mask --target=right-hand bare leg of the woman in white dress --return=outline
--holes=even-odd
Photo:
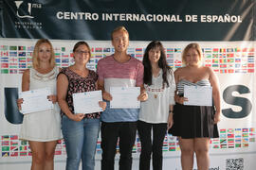
[[[46,142],[45,170],[54,169],[54,153],[57,141]]]

